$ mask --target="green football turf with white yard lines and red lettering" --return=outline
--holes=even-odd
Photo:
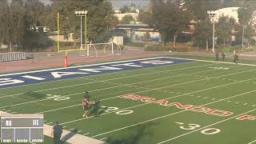
[[[256,143],[256,66],[170,61],[3,87],[0,110],[44,114],[48,125],[58,121],[65,130],[114,144]],[[82,118],[86,90],[91,101],[101,101],[99,117]]]

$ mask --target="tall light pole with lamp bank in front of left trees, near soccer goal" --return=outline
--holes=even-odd
[[[82,50],[82,17],[84,16],[85,17],[85,45],[86,45],[86,48],[87,48],[87,37],[86,37],[86,32],[87,32],[87,26],[86,26],[86,15],[87,15],[87,10],[78,10],[78,11],[74,11],[74,14],[76,14],[76,16],[80,16],[81,17],[81,34],[80,34],[80,41],[81,41],[81,46],[80,46],[80,52]]]

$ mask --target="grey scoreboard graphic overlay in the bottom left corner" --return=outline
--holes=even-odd
[[[1,142],[44,142],[43,114],[1,114]]]

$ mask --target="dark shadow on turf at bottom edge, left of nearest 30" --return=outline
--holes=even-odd
[[[111,144],[136,144],[140,142],[142,138],[152,138],[154,135],[154,126],[158,125],[158,122],[149,122],[136,126],[128,130],[129,134],[120,136],[121,138],[107,138],[106,143]]]

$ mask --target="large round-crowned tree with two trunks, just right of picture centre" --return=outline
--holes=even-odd
[[[186,10],[182,10],[174,2],[153,1],[152,18],[150,25],[158,30],[162,38],[162,46],[173,36],[174,46],[176,39],[182,30],[186,30],[190,23]]]

